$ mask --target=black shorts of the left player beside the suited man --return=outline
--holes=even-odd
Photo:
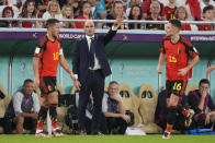
[[[56,91],[56,76],[43,76],[39,80],[41,95],[47,96]]]

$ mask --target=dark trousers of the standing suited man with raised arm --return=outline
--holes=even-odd
[[[86,108],[90,98],[93,96],[93,112],[91,131],[97,132],[101,126],[102,98],[104,94],[104,76],[101,70],[88,71],[88,78],[81,83],[79,93],[78,124],[79,130],[86,130]]]

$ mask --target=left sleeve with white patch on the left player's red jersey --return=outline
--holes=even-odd
[[[47,39],[45,37],[38,41],[38,44],[35,48],[35,51],[34,51],[34,57],[42,58],[43,52],[45,50],[46,43],[47,43]]]

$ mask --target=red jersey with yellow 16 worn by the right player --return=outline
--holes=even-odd
[[[199,55],[191,41],[180,36],[177,44],[172,44],[170,37],[165,36],[160,52],[166,53],[166,79],[167,80],[189,80],[189,72],[184,76],[179,76],[179,70],[188,67],[189,57],[194,58]]]

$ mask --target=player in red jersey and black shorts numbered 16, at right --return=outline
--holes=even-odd
[[[177,106],[179,99],[184,93],[186,82],[189,80],[189,71],[199,62],[199,52],[194,46],[185,38],[179,35],[181,22],[179,20],[170,20],[166,26],[167,35],[163,37],[160,47],[160,57],[157,72],[162,73],[162,63],[167,59],[166,64],[166,87],[168,91],[168,115],[167,128],[163,139],[170,138],[171,129],[176,121]],[[192,58],[189,63],[189,57]]]

